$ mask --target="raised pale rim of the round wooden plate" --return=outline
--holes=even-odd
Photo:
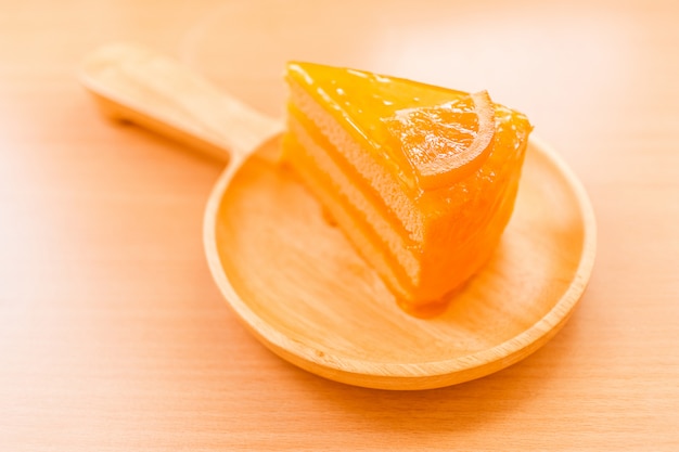
[[[567,322],[590,280],[597,251],[594,210],[582,183],[559,153],[535,133],[529,139],[528,152],[538,152],[550,160],[563,176],[566,182],[564,186],[568,188],[577,202],[582,217],[584,231],[580,259],[573,280],[554,306],[533,325],[494,347],[454,359],[427,361],[425,363],[375,363],[356,358],[337,360],[316,350],[310,345],[285,336],[260,319],[231,285],[217,253],[216,219],[226,192],[225,189],[238,175],[239,169],[247,159],[246,156],[229,163],[213,188],[205,207],[203,244],[210,273],[225,301],[251,334],[282,359],[325,378],[379,389],[431,389],[467,382],[498,372],[539,349]],[[373,371],[380,369],[389,372],[362,372],[361,369]]]

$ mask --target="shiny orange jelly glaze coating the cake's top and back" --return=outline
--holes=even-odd
[[[494,104],[496,132],[492,148],[483,156],[479,168],[450,186],[424,190],[418,184],[403,150],[394,141],[387,127],[389,118],[400,109],[435,107],[469,98],[467,93],[309,63],[291,63],[287,77],[291,83],[303,87],[362,150],[371,153],[393,175],[421,212],[423,241],[408,245],[421,264],[419,281],[413,283],[402,277],[401,272],[399,282],[407,293],[400,290],[395,295],[403,309],[415,315],[428,317],[439,312],[488,261],[509,222],[531,130],[527,118]],[[440,126],[432,124],[432,131],[440,131]],[[414,132],[421,133],[422,130]],[[324,141],[323,137],[317,139]],[[356,183],[366,185],[366,181]],[[387,209],[385,206],[380,208]],[[393,217],[393,214],[385,215]]]

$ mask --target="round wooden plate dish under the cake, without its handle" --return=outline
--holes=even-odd
[[[217,183],[206,253],[229,305],[286,360],[370,388],[449,386],[524,359],[579,300],[595,225],[577,181],[561,171],[545,145],[530,145],[496,256],[434,319],[399,309],[319,203],[265,159],[251,158]]]

